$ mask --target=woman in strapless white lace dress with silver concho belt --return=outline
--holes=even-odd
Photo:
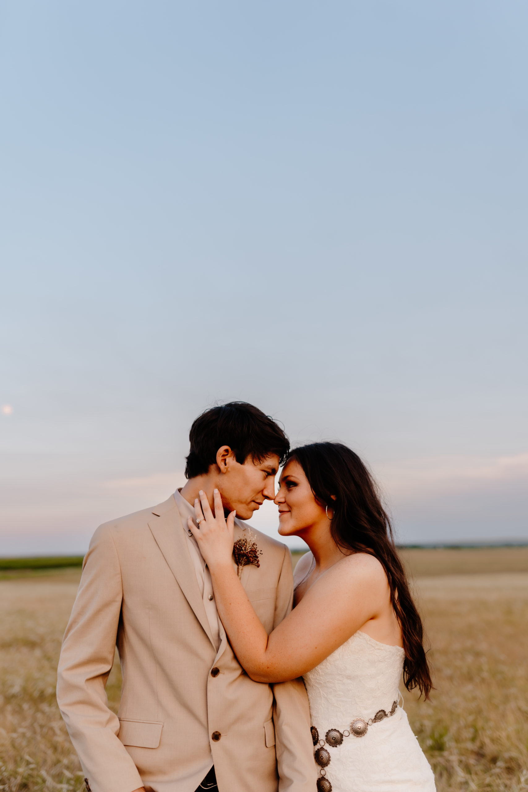
[[[399,706],[427,699],[423,626],[367,468],[348,447],[291,451],[280,476],[279,534],[310,547],[295,570],[294,610],[268,636],[232,560],[234,512],[218,490],[196,500],[189,528],[211,571],[218,613],[241,666],[257,682],[303,676],[318,792],[434,792],[435,779]]]

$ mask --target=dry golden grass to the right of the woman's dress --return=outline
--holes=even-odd
[[[405,695],[438,790],[528,790],[528,573],[416,581],[436,690]]]

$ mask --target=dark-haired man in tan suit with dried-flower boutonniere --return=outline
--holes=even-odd
[[[57,699],[87,792],[314,792],[302,680],[268,685],[245,674],[187,527],[199,489],[212,504],[218,487],[242,520],[272,499],[287,438],[256,407],[231,402],[199,416],[189,439],[183,489],[98,527],[85,556]],[[289,550],[238,520],[234,538],[256,543],[238,569],[269,633],[291,610]],[[116,645],[118,716],[104,691]]]

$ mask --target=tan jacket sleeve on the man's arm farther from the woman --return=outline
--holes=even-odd
[[[92,792],[132,792],[142,780],[117,737],[104,690],[112,670],[123,588],[111,528],[93,535],[63,638],[57,701]]]

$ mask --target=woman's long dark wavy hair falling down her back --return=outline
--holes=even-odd
[[[383,565],[401,626],[405,687],[418,687],[420,695],[428,699],[433,685],[424,650],[424,626],[394,545],[389,516],[367,467],[354,451],[340,443],[300,446],[290,452],[287,463],[291,459],[302,466],[317,501],[332,509],[330,531],[336,545],[373,555]]]

